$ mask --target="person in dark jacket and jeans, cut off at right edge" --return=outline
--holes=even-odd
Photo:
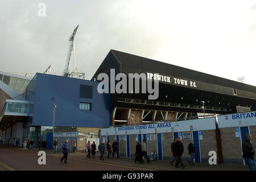
[[[250,171],[255,171],[256,164],[254,159],[255,151],[253,150],[253,144],[251,144],[251,135],[246,134],[245,140],[242,143],[243,159],[247,163]]]

